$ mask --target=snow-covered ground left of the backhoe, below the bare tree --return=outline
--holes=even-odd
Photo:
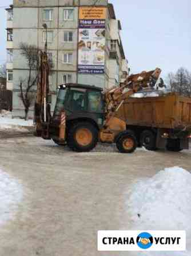
[[[33,126],[33,120],[25,121],[19,118],[12,118],[12,115],[9,111],[2,110],[2,113],[0,114],[0,131],[12,130],[27,132],[28,130],[23,126]]]

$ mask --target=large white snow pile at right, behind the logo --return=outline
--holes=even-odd
[[[166,168],[151,179],[133,186],[127,202],[131,230],[186,230],[185,252],[147,252],[149,256],[191,255],[191,174],[174,167]],[[132,253],[129,255],[143,255]]]

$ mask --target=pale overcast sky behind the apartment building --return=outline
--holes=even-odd
[[[1,0],[8,6],[11,0]],[[179,67],[191,71],[190,0],[110,0],[122,24],[122,42],[133,73],[162,68],[164,76]],[[0,63],[5,62],[6,15],[0,8]]]

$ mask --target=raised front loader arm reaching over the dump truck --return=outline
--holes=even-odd
[[[105,123],[100,132],[102,142],[113,142],[119,132],[126,130],[126,122],[116,117],[117,111],[129,96],[146,88],[154,88],[160,77],[161,69],[142,72],[129,76],[120,87],[114,87],[104,92]]]

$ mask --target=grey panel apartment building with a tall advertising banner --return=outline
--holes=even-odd
[[[108,0],[14,0],[6,10],[7,88],[13,90],[14,116],[23,116],[19,81],[29,74],[19,49],[21,42],[43,49],[47,38],[53,62],[49,77],[52,110],[59,84],[81,83],[106,89],[128,74],[121,24]],[[33,115],[32,108],[29,115]]]

